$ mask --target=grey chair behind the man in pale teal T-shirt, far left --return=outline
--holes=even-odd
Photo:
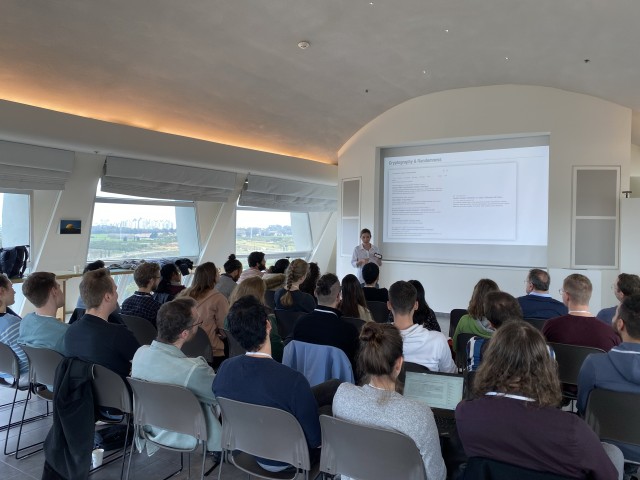
[[[22,346],[24,353],[27,354],[27,358],[29,358],[29,394],[27,400],[31,397],[31,395],[36,395],[43,400],[47,401],[47,413],[49,412],[49,402],[53,401],[53,384],[55,383],[56,378],[56,368],[60,362],[64,359],[62,355],[60,355],[55,350],[50,350],[48,348],[35,348],[28,347],[26,345]],[[25,403],[26,409],[26,403]],[[44,439],[41,442],[35,442],[26,447],[20,447],[20,438],[22,436],[22,427],[24,423],[24,415],[25,412],[22,412],[22,420],[20,421],[20,427],[18,430],[18,439],[16,441],[16,449],[12,452],[15,453],[16,459],[24,458],[27,455],[20,456],[20,452],[30,449],[31,447],[35,447],[44,443]],[[10,421],[9,421],[10,422]],[[7,439],[8,439],[7,430]],[[5,442],[5,455],[7,453],[7,442]],[[33,450],[29,452],[28,455],[39,452],[42,448],[37,450]]]

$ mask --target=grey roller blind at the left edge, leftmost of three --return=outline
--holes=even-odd
[[[0,140],[0,187],[64,190],[73,162],[73,152]]]

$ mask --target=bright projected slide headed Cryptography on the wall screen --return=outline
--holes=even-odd
[[[515,162],[386,162],[387,241],[515,240]]]

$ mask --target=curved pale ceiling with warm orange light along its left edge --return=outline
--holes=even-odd
[[[453,88],[556,87],[640,125],[640,2],[0,0],[0,13],[4,100],[325,163],[387,109]]]

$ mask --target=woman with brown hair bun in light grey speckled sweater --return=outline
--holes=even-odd
[[[398,393],[403,362],[398,330],[388,323],[368,323],[362,327],[360,345],[358,368],[368,383],[340,385],[333,399],[334,416],[411,437],[422,455],[427,478],[444,480],[447,471],[431,409]]]

